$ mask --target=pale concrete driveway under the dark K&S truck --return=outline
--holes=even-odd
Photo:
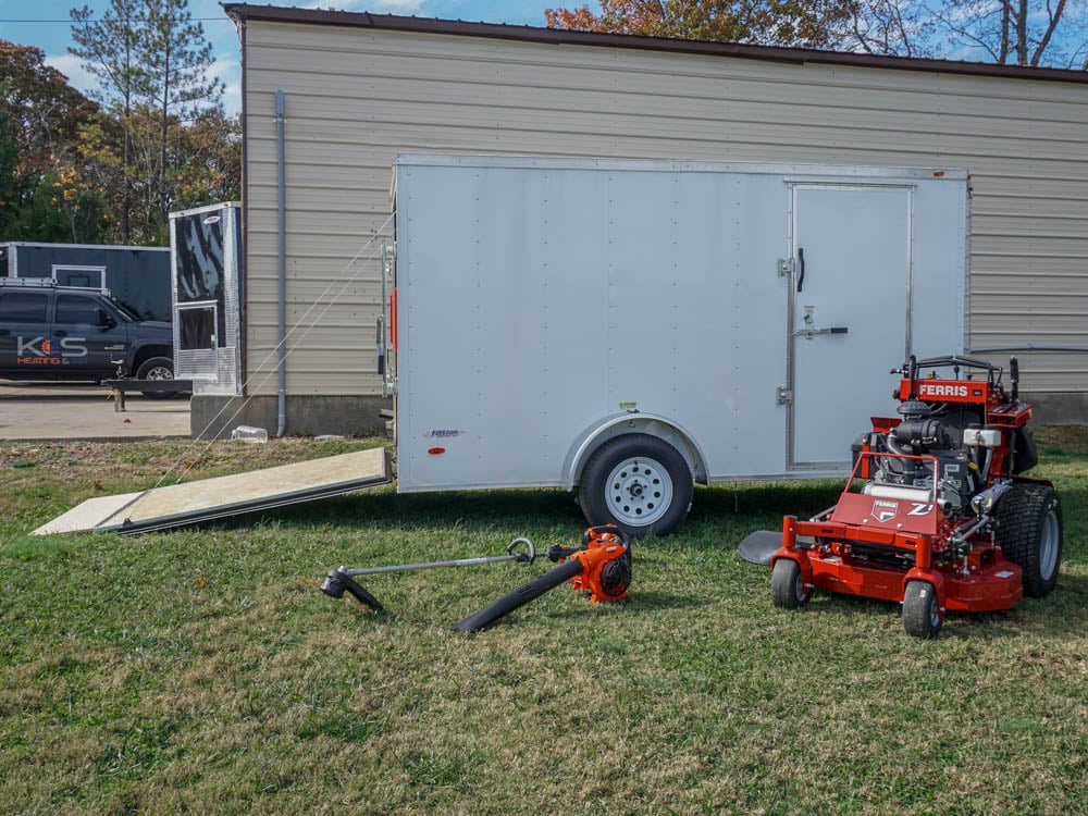
[[[110,391],[82,383],[0,380],[0,440],[146,440],[189,436],[188,395],[125,396],[114,410]]]

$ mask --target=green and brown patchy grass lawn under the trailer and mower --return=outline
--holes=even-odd
[[[775,609],[737,555],[834,483],[700,489],[679,534],[634,544],[627,601],[560,586],[465,636],[549,565],[369,577],[381,615],[312,581],[577,543],[568,494],[383,489],[36,539],[198,454],[186,479],[380,443],[0,443],[0,813],[1088,813],[1088,429],[1036,434],[1058,590],[932,642],[893,604]]]

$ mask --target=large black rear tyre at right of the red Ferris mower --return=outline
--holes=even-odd
[[[1046,597],[1062,562],[1062,504],[1047,484],[1017,484],[998,503],[998,541],[1024,570],[1024,592]]]

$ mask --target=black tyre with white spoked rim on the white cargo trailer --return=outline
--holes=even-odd
[[[664,440],[645,433],[617,436],[590,457],[578,503],[591,524],[614,523],[628,535],[666,535],[691,506],[688,462]]]

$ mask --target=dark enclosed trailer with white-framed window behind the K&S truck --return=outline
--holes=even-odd
[[[170,249],[99,244],[0,244],[0,275],[109,289],[144,320],[170,322]]]

